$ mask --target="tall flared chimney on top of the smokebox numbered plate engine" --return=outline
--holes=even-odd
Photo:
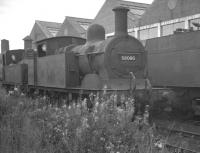
[[[126,7],[115,7],[113,9],[115,13],[115,36],[128,35],[127,32],[127,13],[129,11]]]

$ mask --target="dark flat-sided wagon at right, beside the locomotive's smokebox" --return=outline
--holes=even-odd
[[[190,31],[146,42],[151,83],[154,87],[172,89],[179,109],[191,109],[200,97],[199,40],[200,31]]]

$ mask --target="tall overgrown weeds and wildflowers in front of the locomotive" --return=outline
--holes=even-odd
[[[56,107],[0,91],[0,152],[3,153],[155,153],[155,137],[144,118],[131,121],[134,99],[93,96]],[[118,103],[121,106],[117,106]],[[146,115],[148,118],[148,114]],[[140,121],[140,122],[138,122]]]

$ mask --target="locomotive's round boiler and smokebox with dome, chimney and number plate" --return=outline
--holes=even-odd
[[[71,52],[78,56],[81,88],[128,90],[131,84],[144,88],[146,52],[139,40],[127,33],[127,12],[124,7],[114,8],[115,34],[105,40],[105,30],[94,24],[88,28],[86,43],[74,46]],[[133,73],[137,79],[131,80]],[[136,81],[136,82],[130,82]]]

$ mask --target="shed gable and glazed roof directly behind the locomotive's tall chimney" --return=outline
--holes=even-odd
[[[133,28],[137,24],[138,18],[140,18],[149,5],[123,0],[107,0],[95,17],[93,23],[104,26],[106,33],[114,32],[114,12],[112,9],[117,6],[124,6],[130,9],[128,13],[128,28]]]

